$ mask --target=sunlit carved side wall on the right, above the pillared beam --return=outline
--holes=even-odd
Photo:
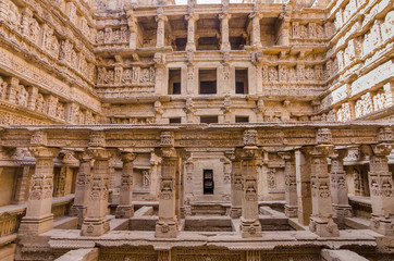
[[[338,28],[332,37],[328,62],[337,73],[322,96],[321,111],[331,121],[391,114],[393,104],[394,5],[382,1],[333,1],[329,20]]]

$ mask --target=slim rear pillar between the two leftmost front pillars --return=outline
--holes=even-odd
[[[86,216],[88,204],[89,185],[91,181],[91,156],[84,151],[76,152],[76,157],[79,160],[79,171],[76,175],[75,198],[71,209],[71,215],[78,217],[78,227],[81,228]]]

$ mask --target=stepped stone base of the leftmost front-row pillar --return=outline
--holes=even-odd
[[[53,229],[53,214],[40,217],[24,216],[19,234],[36,236]]]

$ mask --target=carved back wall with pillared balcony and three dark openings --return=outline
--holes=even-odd
[[[183,116],[192,99],[197,114],[204,107],[214,108],[212,114],[242,108],[249,119],[266,111],[259,119],[310,120],[327,90],[332,72],[327,72],[325,51],[335,29],[325,11],[303,12],[278,1],[124,8],[97,14],[96,51],[102,58],[97,91],[110,104],[110,116],[133,114],[127,103],[148,107],[138,112],[141,117],[147,112],[156,119],[157,111]],[[217,80],[210,96],[200,91],[204,70],[216,75],[208,80]],[[237,71],[245,70],[248,89],[238,92]],[[172,71],[178,72],[180,94],[172,90]],[[263,109],[263,103],[270,105]]]

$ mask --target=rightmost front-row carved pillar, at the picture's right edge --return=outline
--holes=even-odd
[[[389,171],[387,156],[394,146],[379,144],[370,146],[369,189],[371,192],[371,229],[385,236],[394,236],[393,177]],[[366,150],[364,148],[364,150]]]

